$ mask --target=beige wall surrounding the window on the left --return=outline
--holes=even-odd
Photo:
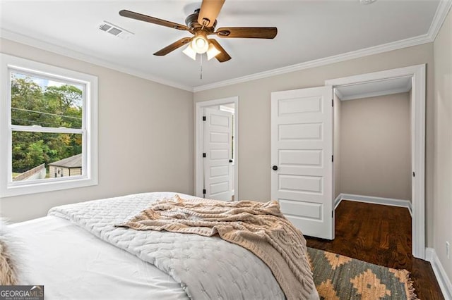
[[[2,216],[27,220],[55,205],[137,192],[193,194],[193,93],[0,42],[4,54],[96,75],[99,82],[99,185],[0,199]]]

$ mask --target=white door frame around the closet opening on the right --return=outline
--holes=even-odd
[[[411,154],[412,170],[415,172],[414,188],[412,187],[412,255],[421,259],[425,259],[425,70],[425,64],[412,65],[325,81],[325,85],[334,88],[396,77],[411,77]]]

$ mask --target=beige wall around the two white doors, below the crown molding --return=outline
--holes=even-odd
[[[196,92],[194,101],[239,96],[239,195],[270,199],[270,94],[287,89],[319,87],[325,80],[427,63],[426,210],[427,245],[433,234],[433,44],[332,63],[260,80]]]

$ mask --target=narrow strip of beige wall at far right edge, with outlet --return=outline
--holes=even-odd
[[[434,42],[434,70],[433,246],[452,280],[452,257],[446,257],[446,241],[452,244],[452,11],[449,11]]]

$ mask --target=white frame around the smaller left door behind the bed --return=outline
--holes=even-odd
[[[203,108],[234,103],[234,201],[239,201],[239,96],[196,102],[195,196],[203,197]]]

